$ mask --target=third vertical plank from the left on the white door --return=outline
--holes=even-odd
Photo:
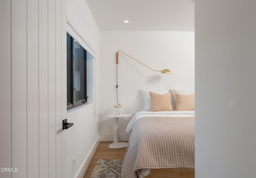
[[[38,0],[27,0],[28,178],[39,176]]]

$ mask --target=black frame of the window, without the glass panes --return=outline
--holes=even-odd
[[[74,38],[72,36],[70,36],[70,49],[68,49],[68,36],[70,36],[70,34],[67,33],[67,98],[68,98],[68,75],[70,75],[70,98],[71,98],[71,103],[68,103],[67,101],[67,110],[69,109],[73,109],[75,107],[84,105],[87,103],[87,69],[86,69],[86,62],[87,62],[87,51],[84,49],[84,47],[82,47],[77,41],[77,43],[80,45],[80,47],[82,47],[84,49],[84,99],[77,101],[76,102],[76,88],[75,88],[75,56],[74,56]],[[70,56],[68,56],[68,50],[70,52]],[[70,57],[70,59],[68,59],[68,57]],[[68,60],[70,60],[70,65],[68,64]],[[68,73],[68,67],[70,67],[70,73]]]

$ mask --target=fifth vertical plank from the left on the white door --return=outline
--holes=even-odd
[[[55,0],[48,0],[48,158],[49,178],[56,178]]]

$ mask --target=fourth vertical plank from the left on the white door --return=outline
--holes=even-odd
[[[39,178],[48,177],[48,1],[39,0]]]

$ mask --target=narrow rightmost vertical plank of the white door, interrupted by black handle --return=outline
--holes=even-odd
[[[67,118],[67,44],[66,44],[67,2],[62,0],[62,119]],[[67,132],[62,132],[62,178],[67,178]]]

